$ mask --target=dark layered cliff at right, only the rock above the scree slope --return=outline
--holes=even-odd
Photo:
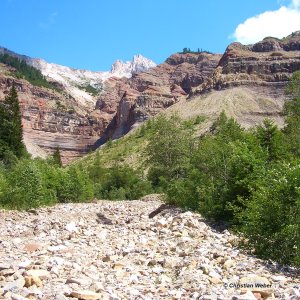
[[[262,86],[266,93],[282,89],[291,74],[300,70],[300,32],[282,40],[265,38],[249,46],[232,43],[226,49],[212,76],[192,92],[192,96],[210,90],[237,86]]]

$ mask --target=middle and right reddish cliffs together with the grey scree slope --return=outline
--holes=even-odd
[[[174,54],[164,64],[130,79],[130,93],[123,96],[106,134],[119,137],[168,107],[184,117],[197,112],[212,121],[225,110],[245,127],[266,117],[283,126],[284,87],[297,70],[300,32],[282,40],[266,38],[255,45],[233,43],[222,57]]]

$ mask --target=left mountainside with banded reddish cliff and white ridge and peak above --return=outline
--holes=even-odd
[[[61,90],[33,86],[18,78],[14,68],[0,64],[0,99],[4,99],[12,85],[16,86],[23,112],[27,149],[34,156],[45,157],[59,147],[64,163],[86,154],[115,114],[115,111],[102,113],[95,110],[97,94],[101,93],[103,82],[112,76],[129,77],[133,72],[155,66],[152,61],[138,55],[132,62],[116,62],[111,72],[90,72],[49,64],[5,48],[0,48],[0,54],[9,54],[38,68],[48,81]],[[90,90],[84,90],[86,87]]]

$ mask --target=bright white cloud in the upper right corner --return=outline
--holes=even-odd
[[[239,24],[233,34],[242,44],[253,44],[267,36],[283,38],[300,30],[300,0],[292,0],[289,6],[266,11]]]

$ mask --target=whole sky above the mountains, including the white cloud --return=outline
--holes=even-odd
[[[1,0],[0,45],[94,71],[184,47],[223,53],[235,40],[300,30],[300,0]]]

